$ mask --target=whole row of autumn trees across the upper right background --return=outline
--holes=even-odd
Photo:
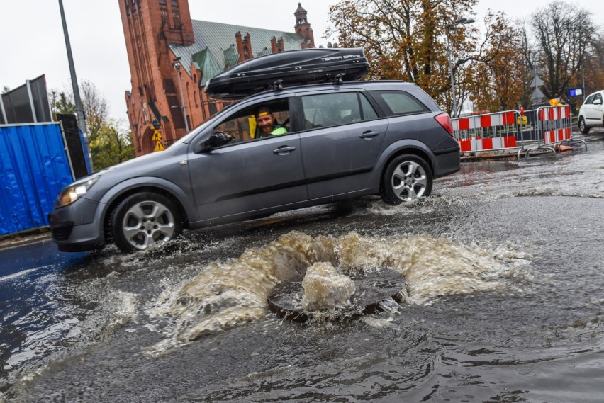
[[[604,86],[602,36],[586,11],[554,1],[525,21],[514,23],[489,11],[481,29],[456,24],[471,16],[476,3],[340,0],[330,6],[328,35],[336,34],[341,47],[364,48],[371,64],[368,79],[414,82],[447,110],[452,110],[453,74],[456,114],[467,99],[479,110],[530,106],[535,67],[544,72],[542,91],[549,98],[581,86],[581,66],[586,87]]]

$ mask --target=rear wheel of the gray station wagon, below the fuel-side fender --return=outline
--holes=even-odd
[[[399,155],[384,171],[381,198],[391,205],[415,200],[432,192],[432,170],[422,158]]]

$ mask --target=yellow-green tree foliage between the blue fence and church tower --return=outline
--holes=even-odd
[[[108,105],[103,93],[90,81],[83,81],[82,109],[86,120],[86,132],[95,171],[135,157],[130,131],[108,118]],[[74,114],[76,106],[71,91],[50,91],[52,114]]]

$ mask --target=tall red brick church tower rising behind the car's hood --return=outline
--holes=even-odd
[[[119,0],[132,91],[125,101],[137,155],[151,152],[157,120],[164,144],[184,135],[178,74],[169,45],[194,43],[188,0]],[[172,106],[177,106],[172,108]]]

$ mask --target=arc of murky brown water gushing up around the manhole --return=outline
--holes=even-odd
[[[411,304],[430,304],[444,295],[494,290],[503,285],[513,261],[527,255],[510,249],[482,249],[427,234],[413,237],[342,237],[289,232],[259,248],[246,249],[230,261],[211,263],[177,290],[167,290],[155,305],[157,315],[168,315],[168,339],[153,353],[189,343],[208,332],[259,319],[269,314],[267,295],[275,285],[306,273],[315,263],[338,271],[389,268],[406,277]],[[505,254],[505,260],[498,254]],[[501,276],[498,276],[501,273]],[[169,302],[169,303],[167,303]]]

